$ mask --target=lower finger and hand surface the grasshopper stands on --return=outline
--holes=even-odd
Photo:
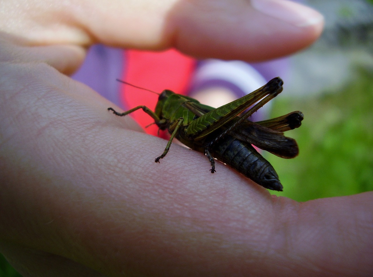
[[[1,74],[2,241],[113,276],[372,270],[372,193],[271,198],[178,145],[155,164],[164,140],[119,128],[126,118],[61,76],[19,64]]]

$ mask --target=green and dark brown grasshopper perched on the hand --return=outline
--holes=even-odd
[[[172,140],[177,138],[187,147],[202,152],[209,158],[211,173],[216,172],[216,158],[264,188],[282,191],[275,169],[251,144],[282,158],[296,157],[299,152],[297,142],[284,136],[283,132],[298,128],[303,114],[294,111],[260,122],[247,119],[276,97],[282,91],[282,85],[280,78],[273,78],[256,91],[219,108],[201,104],[194,98],[165,89],[158,94],[155,112],[146,106],[137,106],[124,113],[118,113],[113,108],[108,110],[117,116],[125,116],[142,109],[154,119],[160,130],[168,129],[171,136],[163,154],[155,159],[158,163],[166,156]]]

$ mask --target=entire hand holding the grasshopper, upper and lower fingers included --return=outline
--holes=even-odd
[[[278,57],[317,39],[316,12],[299,27],[244,0],[2,5],[0,251],[23,276],[372,273],[372,192],[298,203],[176,144],[155,164],[166,142],[67,76],[95,42]]]

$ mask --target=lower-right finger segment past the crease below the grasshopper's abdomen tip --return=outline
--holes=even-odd
[[[273,248],[300,276],[369,276],[373,270],[373,192],[289,205],[277,198]],[[282,249],[280,251],[280,249]],[[288,274],[283,274],[288,275]]]

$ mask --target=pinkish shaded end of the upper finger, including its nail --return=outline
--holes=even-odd
[[[274,59],[312,44],[323,29],[319,12],[286,0],[235,1],[213,9],[191,1],[174,12],[174,46],[202,58]]]

